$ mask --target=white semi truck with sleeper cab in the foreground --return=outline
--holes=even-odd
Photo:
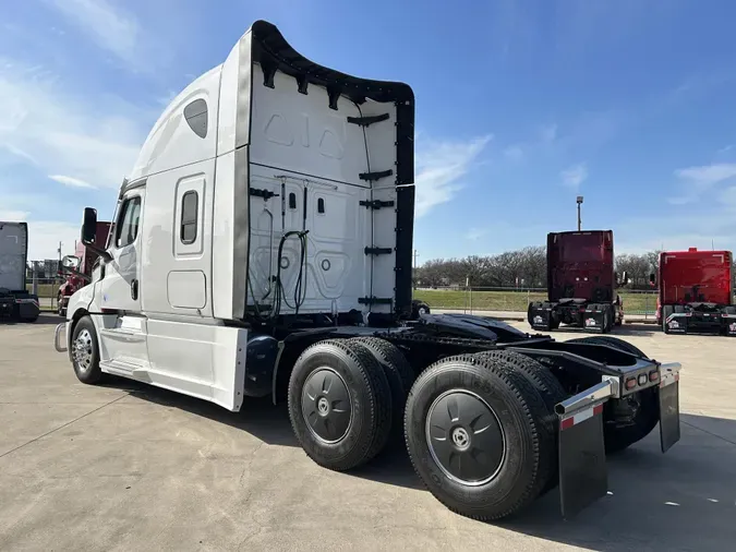
[[[663,452],[679,440],[680,365],[607,336],[410,320],[413,137],[408,85],[318,65],[254,23],[154,125],[57,349],[88,384],[116,374],[232,411],[286,400],[328,469],[405,439],[466,516],[557,484],[574,515],[606,493],[606,452],[657,423]],[[95,228],[86,208],[91,248]]]

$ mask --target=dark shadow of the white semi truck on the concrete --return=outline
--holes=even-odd
[[[111,387],[241,429],[269,445],[294,446],[286,404],[249,398],[240,412],[129,381]],[[565,520],[555,489],[526,511],[492,525],[587,550],[733,550],[736,541],[736,420],[681,415],[681,440],[662,454],[659,427],[607,459],[607,496]],[[403,443],[346,475],[423,490]]]

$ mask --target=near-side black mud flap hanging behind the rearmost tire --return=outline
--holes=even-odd
[[[570,518],[608,492],[603,404],[559,419],[559,502]]]

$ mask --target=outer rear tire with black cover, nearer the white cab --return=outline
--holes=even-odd
[[[329,339],[307,347],[291,372],[288,404],[297,440],[319,466],[348,470],[386,445],[391,392],[363,345]]]

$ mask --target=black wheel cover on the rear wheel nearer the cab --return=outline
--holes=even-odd
[[[312,372],[302,388],[302,416],[312,434],[323,443],[337,443],[352,421],[350,393],[331,368]]]

